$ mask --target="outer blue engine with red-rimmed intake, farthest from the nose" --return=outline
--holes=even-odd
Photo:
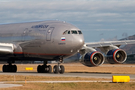
[[[107,61],[111,64],[122,64],[126,61],[127,54],[122,49],[110,50],[107,53]]]

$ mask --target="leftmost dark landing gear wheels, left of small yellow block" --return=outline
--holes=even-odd
[[[17,66],[9,63],[9,65],[3,65],[2,70],[3,72],[16,72]]]

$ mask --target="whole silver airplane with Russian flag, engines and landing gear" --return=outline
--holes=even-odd
[[[124,63],[127,54],[119,46],[125,44],[135,44],[135,40],[85,43],[82,31],[65,21],[0,25],[0,61],[7,63],[3,72],[17,72],[15,61],[43,61],[37,72],[51,73],[48,61],[57,61],[53,73],[63,74],[63,59],[77,52],[81,54],[80,62],[88,67],[102,65],[105,55],[111,64]]]

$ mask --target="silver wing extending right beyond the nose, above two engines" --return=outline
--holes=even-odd
[[[135,44],[135,40],[123,40],[123,41],[103,41],[103,42],[92,42],[85,43],[84,46],[93,47],[93,48],[101,48],[107,46],[121,46],[126,44]]]

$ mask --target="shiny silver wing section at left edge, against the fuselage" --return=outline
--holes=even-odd
[[[0,43],[0,54],[13,54],[14,44],[12,43]]]

